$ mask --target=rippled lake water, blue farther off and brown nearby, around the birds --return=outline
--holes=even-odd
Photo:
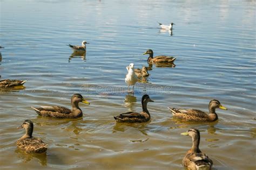
[[[215,169],[255,169],[255,1],[0,1],[1,79],[28,80],[25,89],[0,89],[1,169],[182,169],[191,138],[201,131],[200,148]],[[175,23],[172,33],[157,22]],[[87,45],[85,57],[70,57],[67,44]],[[125,91],[126,66],[147,65],[155,55],[177,57],[176,67],[156,67]],[[146,83],[145,83],[146,82]],[[51,119],[30,107],[70,107],[72,94],[83,118]],[[149,94],[151,121],[116,124],[113,116],[141,111]],[[167,107],[207,111],[218,99],[227,111],[219,121],[188,124]],[[16,148],[25,119],[34,136],[49,144],[46,154]]]

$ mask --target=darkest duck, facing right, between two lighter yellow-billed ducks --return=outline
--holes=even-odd
[[[154,102],[150,99],[149,95],[142,96],[142,112],[137,113],[133,111],[120,114],[119,116],[114,116],[117,122],[130,122],[130,123],[141,123],[150,120],[150,113],[147,110],[147,103]]]

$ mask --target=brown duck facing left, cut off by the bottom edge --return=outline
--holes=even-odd
[[[193,141],[191,149],[187,151],[183,158],[183,165],[188,169],[211,169],[213,165],[212,160],[199,149],[200,132],[197,129],[190,128],[190,130],[181,134],[190,136]]]

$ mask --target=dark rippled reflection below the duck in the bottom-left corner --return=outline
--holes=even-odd
[[[19,148],[15,150],[15,153],[17,153],[18,158],[21,158],[23,160],[23,163],[28,163],[33,158],[37,159],[39,164],[42,166],[47,166],[47,154],[45,153],[27,153]]]

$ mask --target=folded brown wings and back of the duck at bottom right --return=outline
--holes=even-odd
[[[213,165],[212,160],[204,153],[189,153],[186,155],[186,159],[194,162],[198,168],[205,166],[211,167]]]

